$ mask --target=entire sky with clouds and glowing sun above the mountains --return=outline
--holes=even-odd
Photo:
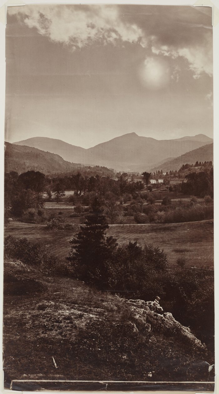
[[[6,141],[213,137],[212,9],[7,8]]]

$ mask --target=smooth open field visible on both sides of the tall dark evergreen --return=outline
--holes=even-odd
[[[187,223],[110,225],[107,234],[117,238],[119,243],[152,243],[164,249],[171,266],[179,257],[185,257],[188,266],[213,266],[212,219]],[[46,225],[11,221],[5,235],[25,237],[32,242],[44,241],[51,253],[64,259],[69,253],[69,241],[74,232],[50,231]]]

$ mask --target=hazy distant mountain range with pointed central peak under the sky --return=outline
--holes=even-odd
[[[102,165],[117,171],[143,171],[145,168],[155,167],[163,160],[181,156],[212,142],[213,139],[204,134],[157,140],[141,137],[133,132],[88,149],[48,137],[33,137],[14,144],[58,154],[68,162]]]

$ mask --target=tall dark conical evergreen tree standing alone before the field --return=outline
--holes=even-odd
[[[108,281],[108,261],[112,259],[117,243],[115,238],[106,236],[109,226],[98,197],[95,197],[91,208],[85,225],[70,241],[72,247],[67,260],[71,261],[78,279],[104,284]]]

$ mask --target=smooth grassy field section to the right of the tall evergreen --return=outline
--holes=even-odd
[[[137,241],[152,243],[164,249],[169,264],[174,266],[178,249],[183,249],[187,266],[213,266],[213,220],[170,224],[111,225],[108,235],[119,243]],[[181,253],[181,254],[182,254]]]

